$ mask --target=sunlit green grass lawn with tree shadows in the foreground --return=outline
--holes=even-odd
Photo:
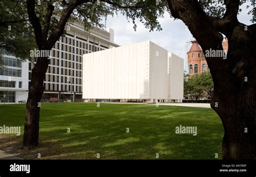
[[[0,149],[24,159],[221,159],[224,130],[210,108],[45,103],[31,151],[21,150],[25,104],[0,105],[0,117],[0,126],[22,126],[20,136],[0,134]],[[197,135],[176,134],[179,125],[197,126]]]

